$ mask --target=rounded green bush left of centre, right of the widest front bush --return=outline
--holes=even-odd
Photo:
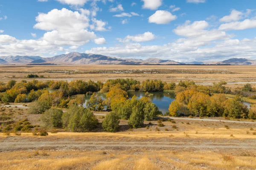
[[[102,127],[107,132],[116,132],[119,129],[119,123],[119,115],[112,111],[103,120]]]

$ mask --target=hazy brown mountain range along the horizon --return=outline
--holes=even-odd
[[[84,54],[72,52],[54,57],[40,56],[7,56],[0,57],[0,65],[180,65],[180,64],[215,64],[215,65],[256,65],[256,60],[245,58],[232,58],[222,62],[188,62],[181,63],[169,59],[121,59],[97,54]]]

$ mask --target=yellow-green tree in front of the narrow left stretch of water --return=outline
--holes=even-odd
[[[91,111],[102,111],[104,109],[103,99],[98,94],[93,93],[89,101],[86,102],[86,106]]]

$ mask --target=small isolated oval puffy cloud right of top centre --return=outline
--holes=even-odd
[[[148,18],[149,23],[156,24],[168,24],[173,20],[176,20],[177,16],[171,14],[169,11],[156,11]]]

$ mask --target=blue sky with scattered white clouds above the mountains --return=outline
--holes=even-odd
[[[0,0],[0,56],[256,59],[256,0]]]

